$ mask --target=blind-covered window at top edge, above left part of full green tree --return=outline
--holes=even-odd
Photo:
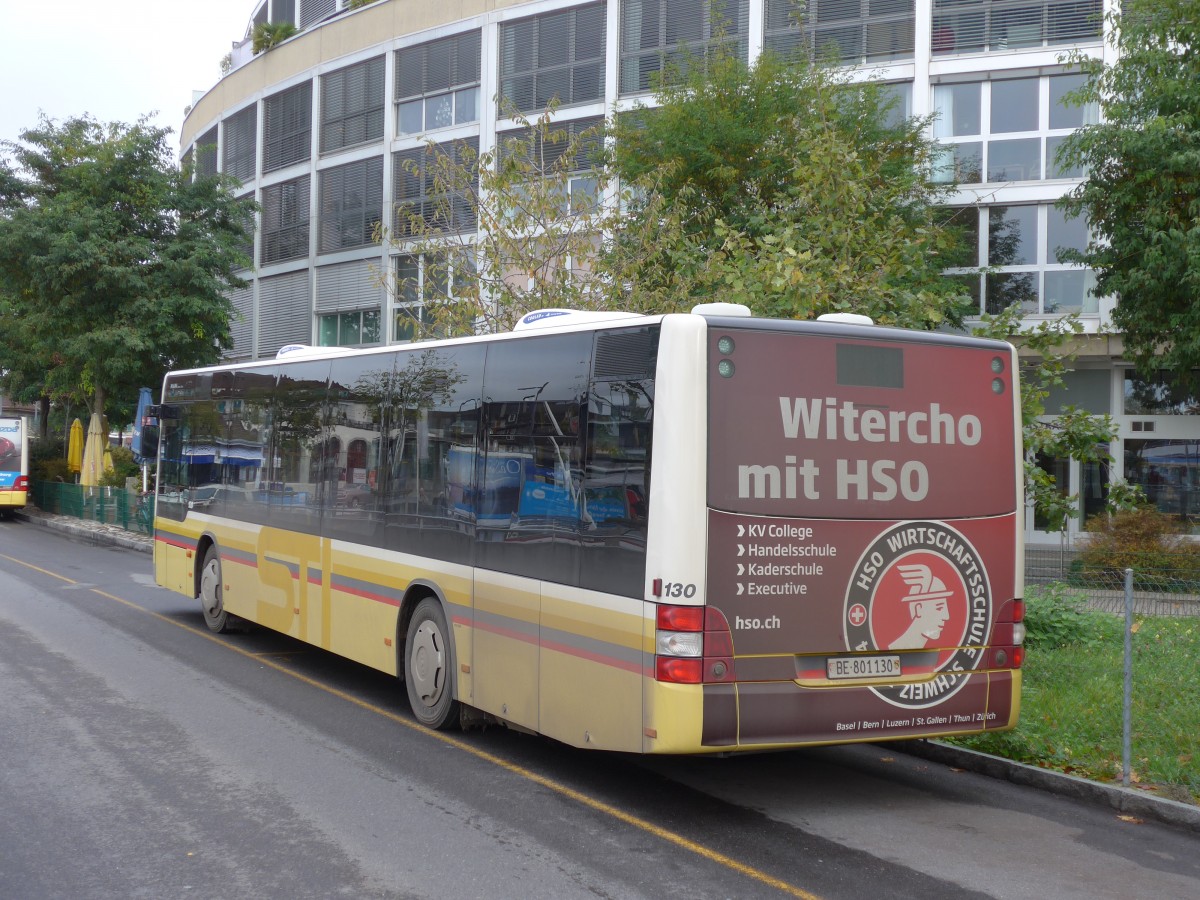
[[[620,5],[620,92],[654,86],[664,70],[724,44],[748,54],[749,0],[625,0]]]

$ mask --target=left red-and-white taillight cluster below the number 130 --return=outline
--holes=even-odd
[[[659,606],[654,677],[672,684],[733,682],[733,637],[725,614],[712,606]]]

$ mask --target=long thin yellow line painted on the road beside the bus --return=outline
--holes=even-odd
[[[43,575],[49,575],[54,578],[58,578],[59,581],[65,581],[68,584],[79,583],[56,572],[48,571],[31,563],[26,563],[23,559],[17,559],[14,557],[5,556],[2,553],[0,553],[0,559],[7,559],[11,563],[17,563],[18,565],[23,565],[26,569],[32,569],[34,571],[42,572]],[[667,830],[666,828],[656,826],[653,822],[649,822],[644,818],[631,815],[623,809],[613,806],[610,803],[605,803],[604,800],[599,800],[595,797],[589,797],[586,793],[576,791],[574,787],[568,787],[564,784],[546,778],[545,775],[540,775],[536,772],[527,769],[523,766],[509,762],[508,760],[496,756],[494,754],[490,754],[486,750],[480,750],[478,746],[474,746],[467,743],[466,740],[451,737],[440,731],[433,731],[432,728],[427,728],[420,722],[406,719],[401,715],[397,715],[396,713],[392,713],[389,709],[384,709],[383,707],[376,706],[374,703],[368,703],[367,701],[360,700],[359,697],[347,694],[346,691],[342,691],[337,688],[332,688],[328,684],[323,684],[322,682],[310,678],[306,674],[302,674],[294,670],[289,670],[280,665],[278,662],[268,659],[266,658],[268,654],[246,650],[241,647],[229,643],[226,640],[222,640],[217,635],[214,635],[208,631],[202,631],[192,625],[180,622],[179,619],[173,619],[172,617],[164,616],[161,612],[155,612],[154,610],[148,610],[144,606],[139,606],[130,600],[125,600],[124,598],[116,596],[115,594],[109,594],[108,592],[101,590],[100,588],[89,588],[89,590],[107,600],[112,600],[114,602],[121,604],[122,606],[127,606],[131,610],[136,610],[137,612],[152,616],[160,622],[166,622],[167,624],[181,628],[185,631],[188,631],[193,635],[198,635],[199,637],[211,641],[218,647],[222,647],[227,650],[232,650],[233,653],[245,656],[246,659],[252,659],[264,666],[269,666],[270,668],[274,668],[276,672],[280,672],[281,674],[289,676],[304,684],[307,684],[311,688],[316,688],[317,690],[324,691],[330,696],[337,697],[338,700],[343,700],[347,703],[352,703],[359,707],[360,709],[365,709],[367,712],[374,713],[376,715],[380,715],[384,719],[388,719],[389,721],[396,722],[397,725],[403,725],[406,728],[410,731],[416,731],[426,737],[436,738],[437,740],[440,740],[443,744],[448,746],[452,746],[456,750],[461,750],[464,754],[470,754],[476,760],[481,760],[484,762],[488,762],[493,766],[497,766],[504,769],[505,772],[517,775],[518,778],[523,778],[527,781],[532,781],[536,785],[540,785],[548,791],[553,791],[560,797],[575,800],[576,803],[582,804],[583,806],[587,806],[589,809],[593,809],[596,812],[602,812],[606,816],[618,820],[619,822],[624,822],[628,826],[632,826],[634,828],[646,832],[647,834],[652,834],[655,838],[659,838],[660,840],[667,841],[668,844],[673,844],[674,846],[682,850],[686,850],[688,852],[695,853],[696,856],[702,857],[712,863],[716,863],[718,865],[736,871],[739,875],[744,875],[748,878],[752,878],[754,881],[761,882],[762,884],[767,884],[768,887],[775,888],[776,890],[780,890],[790,896],[802,898],[802,900],[821,900],[821,898],[817,896],[816,894],[811,894],[808,890],[804,890],[803,888],[798,888],[794,884],[790,884],[788,882],[776,878],[772,875],[768,875],[767,872],[760,869],[755,869],[751,865],[740,863],[737,859],[733,859],[732,857],[721,853],[720,851],[713,850],[712,847],[706,847],[703,844],[694,841],[689,838],[684,838],[682,834],[676,834],[674,832]],[[283,654],[271,654],[271,655],[287,656],[292,654],[283,653]]]

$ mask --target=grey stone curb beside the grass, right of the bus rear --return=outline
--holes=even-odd
[[[1014,785],[1036,787],[1046,793],[1069,797],[1094,806],[1108,806],[1117,812],[1200,833],[1200,806],[1156,797],[1121,785],[1088,781],[1076,775],[1042,769],[1000,756],[980,754],[937,740],[900,740],[896,750],[931,762],[967,769],[989,778],[1012,781]]]

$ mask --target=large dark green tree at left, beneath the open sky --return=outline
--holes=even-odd
[[[2,145],[0,320],[20,335],[0,348],[8,378],[28,388],[40,370],[47,396],[103,413],[229,347],[254,204],[178,169],[168,133],[43,119]]]

